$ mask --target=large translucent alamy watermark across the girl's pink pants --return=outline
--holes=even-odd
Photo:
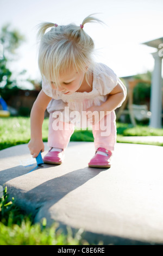
[[[76,126],[77,130],[92,129],[101,131],[101,136],[109,136],[111,133],[111,112],[107,111],[70,111],[69,107],[65,107],[63,111],[55,111],[52,114],[54,118],[52,127],[53,130],[63,131],[69,130],[71,124]],[[66,125],[64,125],[66,123]]]

